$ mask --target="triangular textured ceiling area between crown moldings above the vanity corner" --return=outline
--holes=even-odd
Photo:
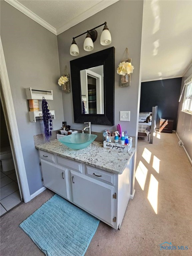
[[[18,0],[18,2],[59,29],[103,0]]]

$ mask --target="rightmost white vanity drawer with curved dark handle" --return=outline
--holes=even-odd
[[[114,185],[114,174],[86,165],[86,175]]]

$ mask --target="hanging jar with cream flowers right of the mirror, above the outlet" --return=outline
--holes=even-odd
[[[130,86],[131,83],[131,73],[133,73],[134,66],[131,64],[131,59],[129,58],[128,49],[126,48],[125,54],[128,55],[128,59],[122,60],[117,68],[117,74],[121,75],[121,87]]]

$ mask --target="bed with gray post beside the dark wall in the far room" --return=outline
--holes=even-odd
[[[146,118],[152,114],[151,122],[146,123]],[[148,137],[149,143],[153,143],[153,136],[150,136],[155,131],[156,128],[156,120],[157,120],[157,106],[152,108],[152,112],[140,112],[139,113],[139,123],[138,123],[138,138]]]

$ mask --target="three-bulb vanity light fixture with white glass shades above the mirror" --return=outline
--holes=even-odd
[[[83,44],[83,48],[85,51],[92,51],[94,46],[93,46],[93,42],[96,41],[97,39],[97,30],[96,28],[99,28],[101,26],[104,25],[104,28],[103,28],[103,32],[101,34],[101,38],[100,38],[100,43],[101,45],[109,45],[111,43],[111,34],[109,32],[109,29],[107,27],[107,22],[95,27],[95,28],[92,28],[90,30],[87,30],[86,32],[76,36],[76,37],[73,37],[73,41],[72,41],[72,44],[71,44],[71,47],[70,47],[70,54],[72,56],[78,56],[79,55],[79,48],[75,42],[75,38],[79,37],[79,36],[82,36],[84,34],[87,33],[86,35],[86,38],[85,38],[85,41],[84,41],[84,44]]]

